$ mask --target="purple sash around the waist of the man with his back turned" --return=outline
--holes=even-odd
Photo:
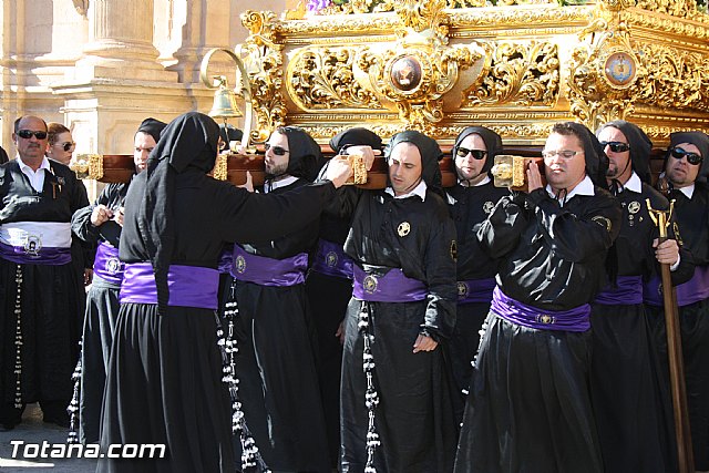
[[[167,271],[168,306],[217,308],[219,273],[199,266],[172,265]],[[150,263],[125,265],[121,304],[157,304],[155,273]]]

